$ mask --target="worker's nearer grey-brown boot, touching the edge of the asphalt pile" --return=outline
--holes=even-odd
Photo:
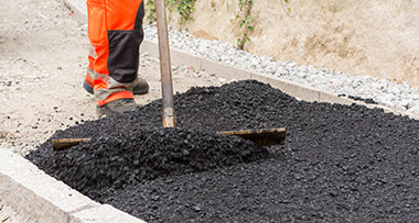
[[[99,118],[106,115],[111,116],[126,111],[132,111],[138,107],[133,99],[118,99],[106,103],[105,105],[96,105],[96,113]]]

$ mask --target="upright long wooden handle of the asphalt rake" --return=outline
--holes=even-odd
[[[163,127],[175,127],[176,115],[173,103],[172,67],[170,64],[170,47],[164,0],[155,0],[155,13],[159,36]]]

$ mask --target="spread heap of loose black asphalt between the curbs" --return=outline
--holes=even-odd
[[[255,80],[175,94],[52,138],[93,137],[26,158],[92,199],[147,222],[416,222],[419,121],[363,105],[304,102]],[[260,147],[217,131],[286,127]]]

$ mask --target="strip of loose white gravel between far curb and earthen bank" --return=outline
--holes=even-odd
[[[84,0],[74,1],[86,9]],[[147,40],[158,41],[155,24],[144,25],[144,33]],[[399,111],[419,114],[419,87],[413,88],[406,82],[393,82],[370,76],[352,77],[330,68],[298,65],[293,62],[277,62],[272,57],[238,51],[233,44],[196,40],[185,30],[170,30],[169,38],[171,47],[204,58],[269,74],[335,94],[372,99]]]

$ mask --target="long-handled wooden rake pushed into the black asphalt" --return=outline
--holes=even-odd
[[[159,36],[163,127],[175,127],[176,115],[173,103],[172,68],[170,63],[170,47],[164,0],[155,0],[155,13]],[[262,146],[281,145],[284,143],[287,135],[286,129],[222,131],[217,133],[221,135],[240,136]],[[89,140],[90,138],[62,138],[53,140],[52,144],[54,149],[65,149],[69,146],[77,145]]]

